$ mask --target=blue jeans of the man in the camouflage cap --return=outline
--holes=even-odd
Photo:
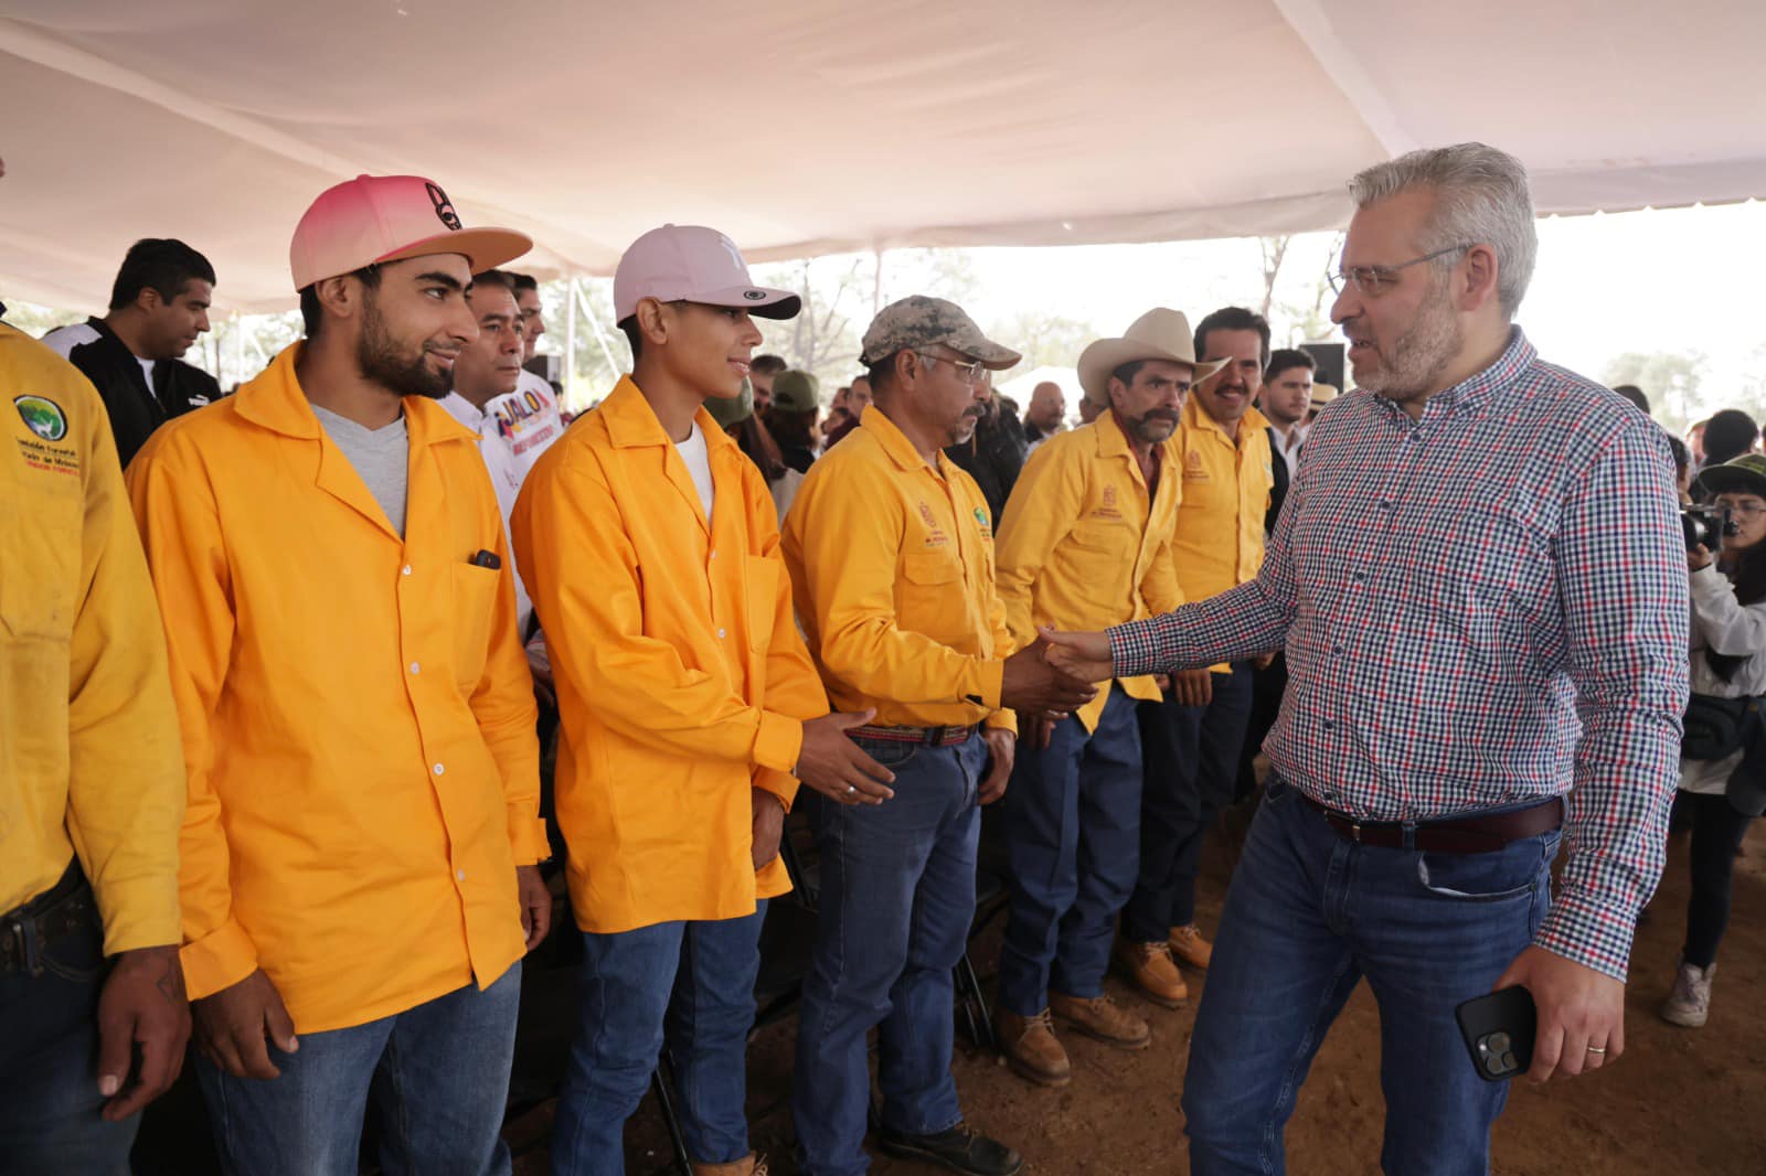
[[[821,807],[821,920],[791,1082],[804,1176],[857,1176],[871,1164],[872,1026],[881,1026],[883,1125],[931,1135],[962,1119],[950,1075],[952,968],[975,918],[987,743],[973,735],[957,747],[858,745],[895,773],[895,798]]]

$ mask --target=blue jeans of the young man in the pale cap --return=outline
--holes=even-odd
[[[662,1045],[675,1061],[682,1134],[699,1164],[749,1153],[749,1029],[761,923],[752,915],[583,934],[583,1021],[558,1097],[555,1176],[625,1171],[625,1119]]]

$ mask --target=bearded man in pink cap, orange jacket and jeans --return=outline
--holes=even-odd
[[[434,399],[477,335],[472,274],[528,244],[420,177],[332,187],[291,247],[306,343],[129,466],[230,1172],[353,1176],[371,1093],[387,1167],[509,1171],[519,964],[551,909],[539,745],[496,493]]]

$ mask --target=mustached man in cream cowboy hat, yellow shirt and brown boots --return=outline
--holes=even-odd
[[[1047,438],[1012,491],[1000,531],[1000,599],[1012,639],[1037,625],[1102,629],[1183,600],[1171,558],[1181,450],[1173,440],[1196,360],[1190,325],[1157,307],[1079,355],[1097,424]],[[1054,1021],[1116,1049],[1146,1049],[1146,1022],[1104,994],[1116,913],[1141,837],[1136,699],[1151,676],[1104,682],[1068,717],[1021,713],[1007,832],[1012,906],[994,1026],[1007,1061],[1042,1086],[1072,1077]]]

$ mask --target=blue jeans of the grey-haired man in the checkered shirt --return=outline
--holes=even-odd
[[[1383,1169],[1487,1172],[1508,1086],[1478,1077],[1453,1010],[1489,992],[1533,943],[1556,853],[1558,832],[1496,853],[1356,846],[1272,775],[1190,1038],[1190,1171],[1284,1171],[1294,1097],[1367,976],[1379,1005]]]

